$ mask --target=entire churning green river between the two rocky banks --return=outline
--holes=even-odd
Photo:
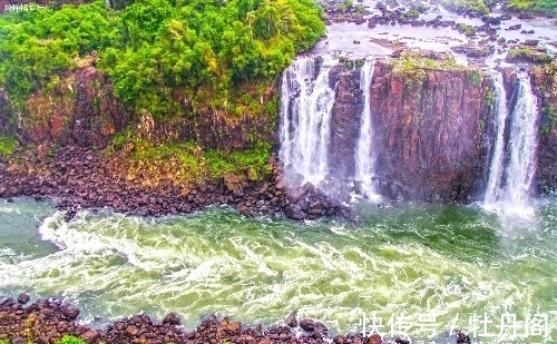
[[[361,220],[245,218],[227,208],[158,219],[109,210],[70,223],[51,204],[0,200],[0,294],[59,296],[102,321],[176,312],[333,333],[475,343],[557,342],[557,202],[529,218],[480,206],[364,205]],[[373,326],[373,324],[375,326]]]

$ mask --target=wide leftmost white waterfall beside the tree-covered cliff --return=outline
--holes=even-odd
[[[281,86],[280,159],[287,169],[316,185],[329,174],[329,142],[334,89],[329,85],[338,59],[300,57],[284,71]]]

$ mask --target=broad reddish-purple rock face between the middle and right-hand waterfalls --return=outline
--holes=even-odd
[[[393,72],[388,62],[375,65],[371,116],[382,194],[449,202],[479,196],[490,85],[472,70]]]

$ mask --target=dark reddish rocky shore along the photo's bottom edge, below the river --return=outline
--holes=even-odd
[[[246,326],[228,318],[216,316],[205,318],[197,328],[187,331],[182,326],[179,317],[169,313],[162,322],[148,315],[138,314],[115,321],[102,330],[78,323],[79,309],[60,299],[38,299],[29,303],[29,295],[21,294],[17,299],[0,298],[0,342],[12,344],[51,344],[65,335],[80,337],[87,343],[97,344],[197,344],[197,343],[237,343],[237,344],[388,344],[379,334],[364,336],[361,333],[329,336],[328,328],[313,320],[297,321],[289,316],[283,325],[263,328]],[[462,332],[456,332],[455,343],[471,343]],[[409,344],[405,338],[397,338],[394,343]]]

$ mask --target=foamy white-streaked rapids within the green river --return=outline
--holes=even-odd
[[[211,216],[150,223],[84,212],[65,223],[57,213],[40,232],[61,250],[0,264],[9,276],[0,288],[63,293],[78,305],[101,305],[105,318],[138,311],[162,317],[173,311],[186,326],[215,312],[268,323],[297,309],[300,317],[348,331],[358,328],[363,313],[378,312],[387,322],[393,314],[427,311],[438,317],[441,332],[457,313],[477,305],[490,314],[500,305],[530,307],[534,291],[505,278],[502,271],[419,243],[383,243],[379,227],[350,230],[317,222],[312,228],[276,227],[287,227],[284,223],[262,229],[240,217],[213,225]],[[516,256],[518,264],[530,259]]]

